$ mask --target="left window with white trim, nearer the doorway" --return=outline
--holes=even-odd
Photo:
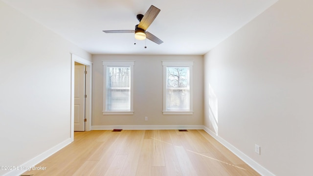
[[[103,61],[103,114],[133,114],[134,61]]]

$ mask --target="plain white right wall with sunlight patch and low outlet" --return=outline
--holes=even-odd
[[[204,56],[205,126],[217,102],[219,137],[277,176],[312,175],[312,7],[279,0]]]

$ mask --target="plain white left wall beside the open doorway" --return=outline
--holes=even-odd
[[[21,166],[69,139],[70,53],[91,56],[2,1],[0,26],[0,166]]]

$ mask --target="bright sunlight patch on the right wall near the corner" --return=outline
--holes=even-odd
[[[209,84],[209,120],[210,130],[214,130],[215,134],[218,135],[218,114],[217,114],[217,97],[214,93],[213,88]]]

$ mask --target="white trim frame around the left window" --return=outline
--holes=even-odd
[[[133,115],[134,114],[134,61],[102,61],[103,65],[103,115]],[[107,66],[130,66],[131,67],[131,109],[125,111],[107,111],[106,87],[107,87]]]

